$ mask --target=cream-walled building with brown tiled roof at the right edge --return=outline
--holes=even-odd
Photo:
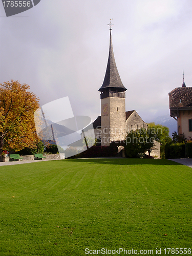
[[[178,135],[192,138],[192,87],[186,87],[184,74],[182,87],[175,88],[168,96],[170,116],[177,121]]]

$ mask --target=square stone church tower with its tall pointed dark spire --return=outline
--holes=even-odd
[[[110,51],[103,84],[99,89],[101,99],[101,145],[125,138],[125,91],[115,63],[110,22]]]

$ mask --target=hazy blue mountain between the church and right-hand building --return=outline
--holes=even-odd
[[[177,132],[177,121],[170,117],[169,114],[165,116],[159,116],[150,122],[154,122],[155,124],[161,124],[169,128],[169,136],[172,138],[172,133]]]

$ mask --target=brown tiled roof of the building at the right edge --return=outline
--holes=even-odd
[[[178,87],[168,95],[169,108],[191,108],[192,87]]]

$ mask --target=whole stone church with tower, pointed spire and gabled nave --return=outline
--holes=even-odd
[[[142,120],[135,110],[125,111],[125,91],[127,90],[121,81],[115,63],[112,44],[112,33],[110,23],[110,49],[108,64],[102,86],[99,88],[101,100],[101,115],[83,129],[81,138],[84,136],[95,137],[102,146],[108,146],[112,141],[122,141],[126,133],[131,130],[147,129],[147,124]],[[91,132],[94,128],[94,133]]]

